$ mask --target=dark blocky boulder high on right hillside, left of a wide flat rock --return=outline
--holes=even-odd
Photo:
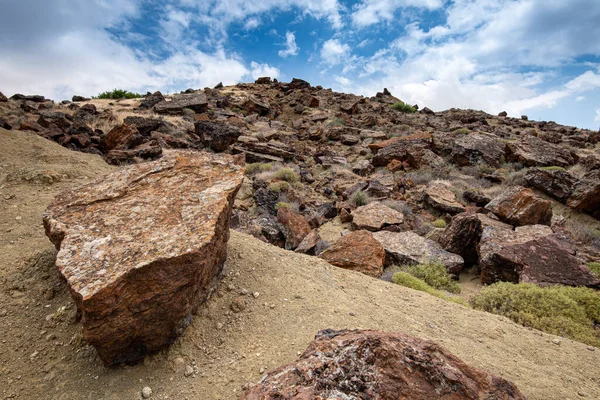
[[[504,144],[484,133],[461,135],[454,141],[454,149],[450,155],[452,161],[460,166],[488,164],[500,167],[504,158]]]

